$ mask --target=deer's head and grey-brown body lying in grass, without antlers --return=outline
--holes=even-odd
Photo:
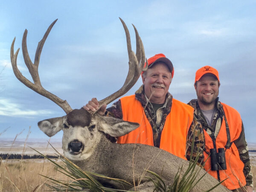
[[[123,179],[135,186],[141,185],[142,191],[154,190],[152,183],[149,186],[143,185],[145,182],[148,183],[148,178],[143,176],[152,177],[145,169],[157,173],[169,185],[173,183],[178,169],[183,165],[184,174],[189,165],[189,161],[153,146],[111,143],[105,134],[119,137],[136,129],[139,124],[98,114],[91,115],[84,109],[73,110],[64,117],[46,119],[38,122],[38,126],[49,136],[62,129],[64,155],[82,170]],[[204,173],[202,169],[198,178]],[[97,179],[115,189],[131,188],[101,177]],[[217,183],[214,177],[206,174],[193,191],[206,191]],[[220,190],[228,191],[222,185],[215,188],[215,191]]]

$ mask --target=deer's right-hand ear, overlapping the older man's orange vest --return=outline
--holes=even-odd
[[[99,131],[109,134],[112,137],[120,137],[140,126],[139,123],[128,122],[122,119],[116,119],[109,116],[102,116],[102,125],[99,128]]]

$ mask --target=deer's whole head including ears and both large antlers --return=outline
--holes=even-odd
[[[137,29],[134,26],[137,47],[135,54],[131,50],[131,40],[128,28],[121,18],[120,20],[125,29],[129,56],[129,71],[123,86],[115,93],[99,101],[100,105],[109,104],[113,100],[127,93],[127,91],[130,90],[131,87],[137,82],[141,72],[145,71],[148,67],[147,64],[144,67],[146,60],[145,52],[143,43],[140,39]],[[90,154],[93,152],[93,149],[96,147],[96,145],[100,142],[103,134],[109,134],[113,137],[119,137],[134,130],[139,126],[139,124],[133,122],[126,122],[121,119],[115,119],[112,117],[100,116],[96,112],[88,112],[83,108],[73,110],[66,100],[58,98],[54,94],[45,90],[44,87],[42,87],[38,75],[40,55],[44,46],[44,42],[46,41],[47,36],[49,35],[49,32],[56,21],[57,19],[52,22],[52,24],[48,27],[47,31],[45,32],[42,40],[39,41],[35,53],[34,63],[32,63],[31,59],[29,58],[29,54],[27,51],[27,30],[25,30],[23,34],[23,58],[34,83],[26,79],[17,68],[17,55],[19,49],[17,49],[17,51],[14,53],[15,38],[12,41],[11,46],[12,69],[18,80],[20,80],[23,84],[25,84],[27,87],[34,90],[35,92],[55,102],[67,113],[66,116],[45,119],[43,121],[40,121],[38,122],[38,126],[49,137],[55,135],[58,131],[63,130],[62,148],[64,151],[64,155],[71,160],[81,160],[90,157]]]

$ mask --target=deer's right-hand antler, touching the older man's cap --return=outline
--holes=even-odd
[[[128,90],[130,90],[131,87],[133,87],[134,84],[137,82],[137,80],[140,77],[141,72],[148,69],[148,60],[145,58],[143,43],[141,41],[141,38],[138,34],[136,27],[133,25],[135,34],[136,34],[136,55],[135,55],[135,53],[131,50],[131,38],[130,38],[129,30],[128,30],[127,26],[125,25],[125,22],[120,17],[119,17],[119,19],[121,20],[122,25],[125,29],[128,56],[129,56],[129,63],[128,63],[129,71],[128,71],[128,75],[125,79],[125,83],[123,84],[123,86],[115,93],[111,94],[110,96],[106,97],[105,99],[100,100],[99,101],[100,107],[103,104],[108,105],[113,100],[115,100],[118,97],[127,93]],[[145,65],[145,60],[146,60],[146,65]],[[144,67],[144,65],[145,65],[145,67]],[[96,112],[91,112],[91,113],[96,113]]]

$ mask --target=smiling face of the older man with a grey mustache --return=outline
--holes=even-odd
[[[172,73],[164,63],[156,63],[143,75],[144,91],[150,102],[163,104],[172,82]]]

